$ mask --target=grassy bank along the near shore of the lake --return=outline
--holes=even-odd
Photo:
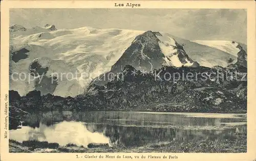
[[[191,141],[187,143],[178,143],[175,141],[148,144],[142,147],[124,147],[108,144],[89,144],[87,147],[68,144],[60,146],[58,143],[48,143],[39,141],[25,141],[22,143],[14,140],[9,141],[9,151],[15,153],[114,153],[114,152],[168,152],[168,153],[244,153],[247,147],[246,133],[237,134],[237,139],[219,139],[216,141],[202,140]]]

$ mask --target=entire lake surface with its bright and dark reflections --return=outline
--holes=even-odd
[[[191,117],[131,112],[46,112],[32,114],[10,139],[38,140],[67,145],[110,143],[143,146],[160,142],[236,139],[246,132],[246,118]],[[221,114],[223,115],[223,114]]]

